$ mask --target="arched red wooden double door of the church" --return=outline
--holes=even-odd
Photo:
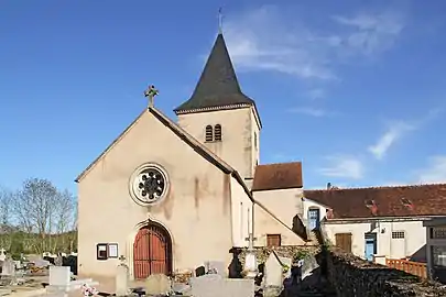
[[[133,243],[134,278],[172,273],[172,239],[159,223],[150,222],[138,231]]]

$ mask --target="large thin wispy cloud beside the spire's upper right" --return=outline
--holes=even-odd
[[[263,6],[228,18],[225,35],[237,67],[268,70],[303,79],[336,79],[336,64],[391,46],[404,28],[396,13],[327,15],[338,26],[322,31],[302,23],[286,8]],[[346,28],[348,30],[346,30]]]

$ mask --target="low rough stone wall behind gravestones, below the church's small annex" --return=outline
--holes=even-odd
[[[239,260],[242,265],[244,265],[244,256],[247,253],[246,248],[242,249],[241,254],[239,255]],[[315,255],[319,253],[320,248],[319,246],[314,246],[314,245],[284,245],[284,246],[272,246],[272,248],[266,248],[266,246],[258,246],[254,248],[255,251],[255,256],[258,263],[264,263],[266,262],[269,255],[271,254],[271,251],[275,251],[275,253],[279,256],[283,257],[290,257],[294,258],[295,255],[298,254],[312,254]]]

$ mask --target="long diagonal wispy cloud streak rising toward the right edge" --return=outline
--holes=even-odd
[[[378,139],[378,141],[368,147],[368,151],[377,158],[382,160],[391,146],[402,139],[406,133],[417,130],[426,122],[435,119],[442,109],[432,109],[427,112],[426,117],[418,121],[393,121],[389,124],[385,132]]]

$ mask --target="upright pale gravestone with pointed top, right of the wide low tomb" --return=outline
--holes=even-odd
[[[291,268],[291,267],[290,267]],[[264,264],[264,296],[279,296],[283,289],[283,265],[272,251]]]

